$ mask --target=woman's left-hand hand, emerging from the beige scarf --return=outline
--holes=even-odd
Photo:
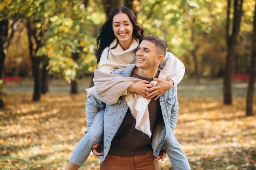
[[[127,93],[137,93],[146,97],[149,94],[147,92],[148,88],[153,87],[153,85],[148,84],[146,80],[139,80],[138,82],[133,83],[130,87],[127,88]]]

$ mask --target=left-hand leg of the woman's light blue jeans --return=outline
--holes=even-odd
[[[92,146],[103,140],[104,112],[105,109],[102,109],[96,114],[92,126],[90,126],[88,132],[86,132],[72,152],[70,162],[74,165],[82,166],[90,155]]]

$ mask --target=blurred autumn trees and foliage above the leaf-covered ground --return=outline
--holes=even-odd
[[[99,30],[120,6],[132,9],[147,35],[165,38],[186,67],[184,78],[222,79],[225,104],[232,103],[233,80],[254,90],[255,0],[3,0],[0,79],[32,78],[35,101],[52,77],[78,93],[78,80],[97,68]]]

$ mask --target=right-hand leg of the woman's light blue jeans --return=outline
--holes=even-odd
[[[166,153],[172,163],[174,170],[190,170],[189,161],[182,150],[179,142],[177,141],[173,132],[169,130],[169,134],[166,135],[166,139],[164,141],[164,147]]]

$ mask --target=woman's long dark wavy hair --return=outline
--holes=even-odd
[[[140,26],[137,23],[137,18],[132,13],[132,11],[126,7],[116,8],[109,15],[108,20],[101,26],[100,35],[97,37],[97,49],[95,51],[95,55],[97,57],[97,63],[99,63],[99,61],[101,59],[101,53],[103,52],[103,50],[106,47],[110,46],[110,44],[116,38],[115,34],[112,30],[112,22],[113,22],[114,16],[117,13],[126,13],[128,15],[128,17],[134,27],[134,29],[132,31],[132,36],[134,38],[137,38],[139,40],[139,42],[141,42],[141,39],[144,37],[144,35],[143,35],[144,29],[142,28],[142,26]],[[117,44],[118,44],[118,40],[117,40]],[[117,46],[117,44],[112,49],[114,49]]]

